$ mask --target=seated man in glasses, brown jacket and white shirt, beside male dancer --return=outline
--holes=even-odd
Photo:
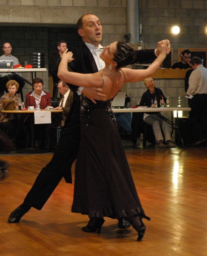
[[[55,107],[54,110],[63,110],[63,112],[56,113],[55,119],[58,120],[57,126],[64,126],[72,104],[73,92],[70,90],[69,85],[62,80],[58,82],[57,88],[62,96],[60,97],[59,106]]]

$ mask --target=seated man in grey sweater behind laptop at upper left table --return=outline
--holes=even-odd
[[[13,60],[13,64],[17,65],[19,64],[19,60],[14,57],[13,55],[11,55],[11,51],[12,51],[12,46],[9,43],[5,43],[3,44],[3,51],[4,54],[0,57],[0,60]],[[19,76],[22,75],[22,73],[17,73]],[[13,73],[0,73],[0,77],[1,77],[1,86],[3,87],[3,89],[8,92],[7,88],[6,88],[6,83],[9,80],[15,80],[16,82],[19,83],[19,88],[17,93],[19,93],[20,91],[22,91],[22,88],[25,85],[25,82],[23,79],[21,79],[19,76],[14,75]],[[23,100],[23,99],[22,99]]]

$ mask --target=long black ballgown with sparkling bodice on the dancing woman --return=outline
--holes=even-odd
[[[144,215],[110,101],[81,96],[81,144],[72,212],[89,218]]]

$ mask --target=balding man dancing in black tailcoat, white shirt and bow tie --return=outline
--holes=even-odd
[[[102,25],[97,16],[86,14],[82,16],[78,22],[78,34],[83,39],[83,44],[73,50],[74,61],[71,63],[71,69],[79,73],[95,73],[105,66],[105,63],[100,62],[97,49],[100,49],[102,40]],[[94,51],[95,50],[95,51]],[[98,50],[98,51],[101,51]],[[148,61],[155,59],[155,49],[134,51],[136,62]],[[157,48],[159,55],[159,44]],[[96,60],[94,59],[96,57]],[[143,62],[142,62],[143,63]],[[103,66],[103,68],[104,68]],[[38,174],[34,185],[25,197],[22,205],[19,205],[10,215],[8,222],[16,223],[28,212],[31,207],[41,210],[47,199],[53,193],[60,180],[64,177],[66,182],[72,183],[71,166],[75,161],[80,135],[80,97],[76,92],[77,86],[70,85],[73,90],[73,103],[66,118],[63,132],[60,135],[59,143],[55,149],[53,158]],[[100,88],[80,88],[82,93],[95,100],[104,100],[105,95],[101,94]],[[67,159],[67,161],[66,161]],[[129,227],[129,224],[122,225],[119,222],[119,228]]]

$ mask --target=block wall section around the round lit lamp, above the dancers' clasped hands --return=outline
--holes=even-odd
[[[154,47],[162,39],[169,39],[174,51],[174,63],[178,61],[178,48],[207,47],[206,0],[146,0],[141,1],[142,35],[140,40],[147,47]],[[180,33],[172,33],[173,26]]]

